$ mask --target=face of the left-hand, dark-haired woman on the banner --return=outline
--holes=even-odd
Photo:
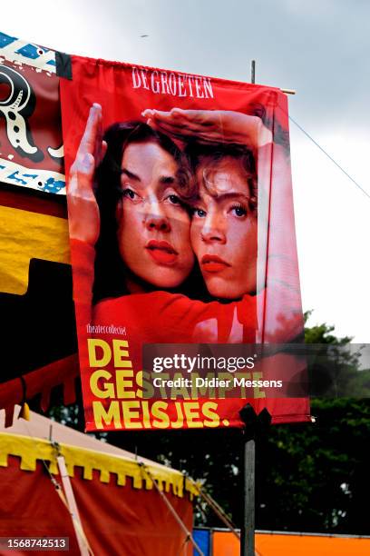
[[[131,273],[158,288],[174,288],[194,263],[190,216],[177,194],[178,164],[159,144],[129,144],[122,157],[118,240]]]

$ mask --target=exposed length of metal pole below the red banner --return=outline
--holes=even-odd
[[[255,556],[255,468],[256,441],[248,438],[244,444],[244,515],[240,556]]]

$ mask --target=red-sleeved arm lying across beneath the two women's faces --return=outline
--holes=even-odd
[[[127,327],[143,343],[253,343],[256,304],[248,295],[223,304],[167,292],[135,293],[97,303],[94,323]]]

